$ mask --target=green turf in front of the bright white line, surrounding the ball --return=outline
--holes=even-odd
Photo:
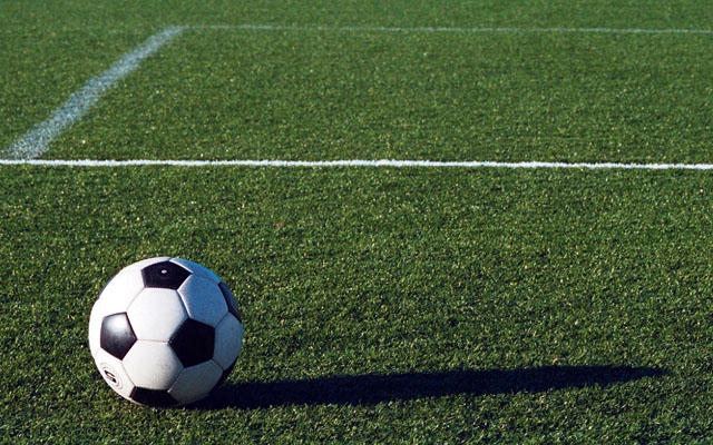
[[[703,442],[705,174],[3,167],[3,442]],[[100,379],[125,265],[205,264],[244,354],[209,399]]]

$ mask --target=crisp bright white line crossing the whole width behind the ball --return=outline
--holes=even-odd
[[[94,160],[94,159],[0,159],[0,166],[40,167],[272,167],[272,168],[502,168],[502,169],[579,169],[579,170],[713,170],[713,164],[625,164],[625,162],[498,162],[434,160]]]

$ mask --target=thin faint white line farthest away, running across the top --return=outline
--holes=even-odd
[[[283,24],[196,24],[193,29],[227,29],[253,31],[332,31],[332,32],[455,32],[455,33],[613,33],[613,34],[713,34],[710,29],[646,28],[450,28],[450,27],[300,27]]]

